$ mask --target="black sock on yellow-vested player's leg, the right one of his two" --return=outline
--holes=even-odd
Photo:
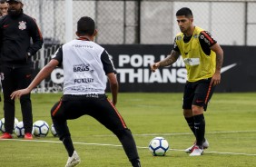
[[[194,129],[195,129],[195,137],[196,144],[202,148],[202,142],[204,141],[204,133],[205,133],[205,121],[203,114],[194,116]]]

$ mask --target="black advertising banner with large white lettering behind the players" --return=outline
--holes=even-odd
[[[162,67],[155,73],[150,69],[151,64],[171,53],[171,44],[119,44],[103,45],[103,47],[111,55],[116,68],[120,92],[180,93],[183,91],[187,72],[181,56],[172,66]],[[256,47],[222,46],[222,49],[224,51],[222,82],[216,87],[216,92],[256,92]],[[45,80],[44,92],[61,92],[63,74],[62,68],[56,68]],[[35,92],[41,92],[40,88]]]

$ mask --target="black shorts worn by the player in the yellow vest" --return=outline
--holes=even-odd
[[[192,109],[192,105],[203,106],[204,111],[207,109],[215,86],[211,86],[211,79],[203,79],[197,82],[187,82],[183,94],[183,109]]]

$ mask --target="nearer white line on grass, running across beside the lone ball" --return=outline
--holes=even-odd
[[[0,139],[0,141],[62,143],[60,141],[40,141],[40,140],[23,140],[23,139]],[[123,147],[123,145],[116,145],[116,144],[111,144],[111,143],[88,143],[88,142],[73,142],[73,143],[81,144],[81,145],[100,145],[100,146]],[[148,147],[142,147],[142,146],[137,146],[137,148],[138,149],[148,149]],[[180,149],[169,149],[169,150],[174,151],[174,152],[184,152],[184,150],[180,150]],[[255,153],[241,153],[241,152],[203,152],[203,153],[256,156]]]

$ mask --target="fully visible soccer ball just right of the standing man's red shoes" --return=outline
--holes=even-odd
[[[46,137],[49,133],[49,125],[48,123],[39,120],[33,123],[34,127],[34,136],[35,137]]]

